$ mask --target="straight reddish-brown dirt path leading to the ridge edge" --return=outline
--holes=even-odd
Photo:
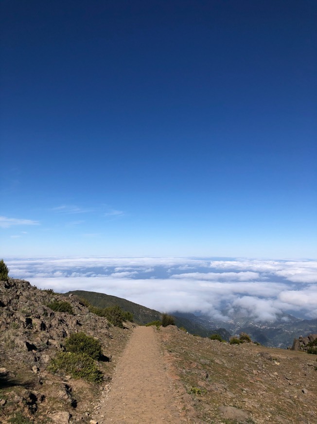
[[[152,327],[137,327],[116,368],[110,392],[93,419],[103,423],[186,423]]]

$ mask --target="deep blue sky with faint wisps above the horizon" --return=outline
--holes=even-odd
[[[0,4],[1,257],[317,257],[316,1]]]

